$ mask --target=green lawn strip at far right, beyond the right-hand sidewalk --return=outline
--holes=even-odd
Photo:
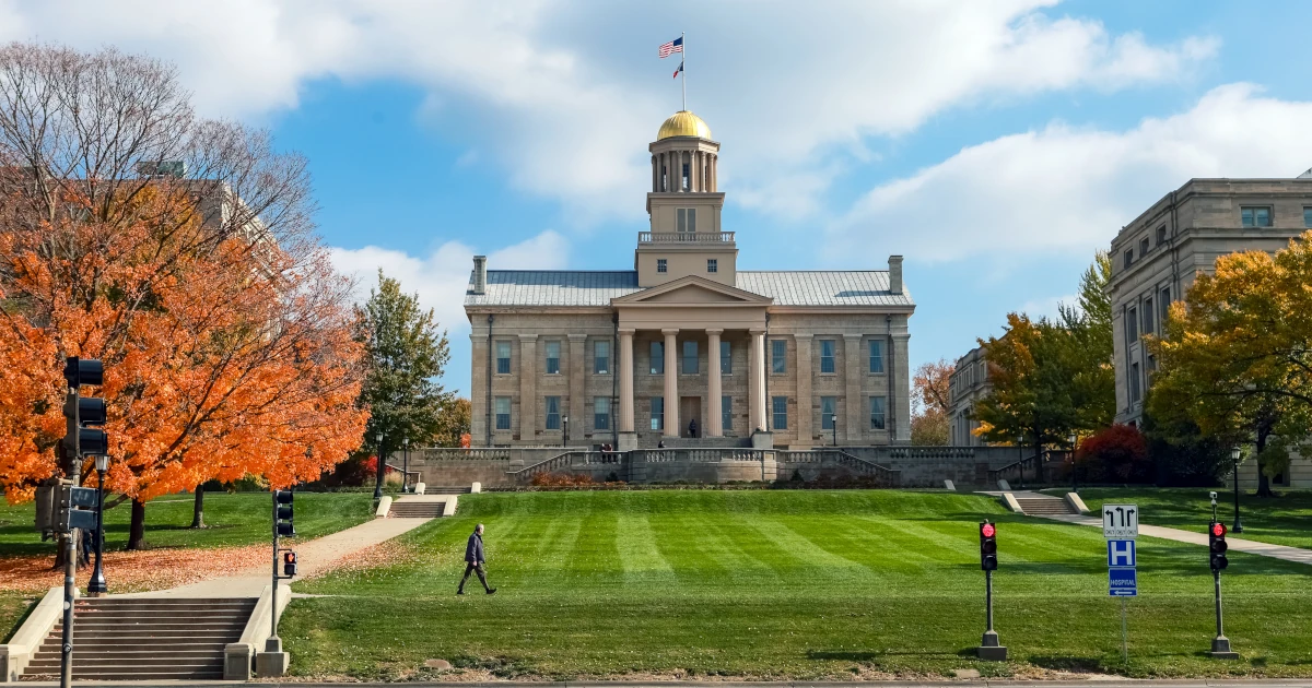
[[[1090,511],[1098,512],[1103,502],[1139,505],[1140,519],[1152,526],[1168,526],[1199,533],[1207,532],[1212,518],[1207,493],[1212,487],[1089,487],[1080,498]],[[1227,526],[1235,524],[1235,493],[1216,489],[1216,515]],[[1064,494],[1064,491],[1063,491]],[[1279,497],[1257,498],[1240,493],[1240,516],[1244,532],[1235,537],[1312,548],[1312,491],[1282,490]]]

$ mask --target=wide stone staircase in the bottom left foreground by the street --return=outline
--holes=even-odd
[[[73,607],[73,679],[220,680],[223,649],[245,629],[253,598],[88,598]],[[58,679],[63,622],[24,671]]]

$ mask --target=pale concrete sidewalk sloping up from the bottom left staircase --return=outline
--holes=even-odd
[[[374,519],[345,531],[298,543],[297,565],[299,577],[314,575],[333,564],[392,537],[407,533],[433,519]],[[230,577],[211,578],[199,583],[155,590],[151,592],[131,592],[115,598],[258,598],[260,591],[272,582],[273,545],[269,545],[269,564],[244,569]],[[286,583],[285,583],[286,584]]]

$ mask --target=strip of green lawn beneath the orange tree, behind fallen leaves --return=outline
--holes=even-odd
[[[297,493],[295,523],[300,537],[319,537],[363,523],[371,516],[369,493]],[[151,546],[215,548],[251,545],[269,540],[272,498],[269,493],[209,493],[205,495],[205,529],[192,529],[193,498],[169,495],[146,503],[146,541]],[[105,546],[127,545],[131,505],[105,511]],[[54,554],[54,541],[41,541],[33,529],[35,505],[0,506],[0,556]]]

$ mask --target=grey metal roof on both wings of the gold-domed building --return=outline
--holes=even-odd
[[[914,305],[905,287],[888,291],[887,270],[739,270],[735,286],[775,305]],[[484,291],[467,290],[464,305],[610,305],[643,287],[634,270],[488,270]]]

